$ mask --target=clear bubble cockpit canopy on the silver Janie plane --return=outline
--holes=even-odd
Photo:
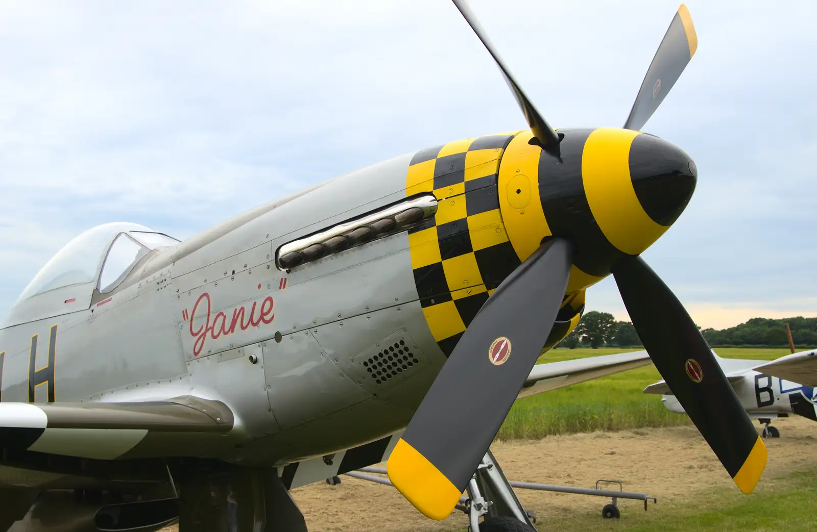
[[[175,238],[140,224],[97,225],[59,250],[25,287],[17,304],[67,286],[82,286],[82,291],[87,292],[82,294],[87,296],[83,299],[90,303],[94,288],[103,294],[114,290],[151,250],[178,243]]]

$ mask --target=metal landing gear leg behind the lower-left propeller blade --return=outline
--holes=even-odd
[[[471,532],[536,532],[532,512],[522,508],[490,450],[468,483],[468,495]],[[482,516],[484,521],[480,523]]]

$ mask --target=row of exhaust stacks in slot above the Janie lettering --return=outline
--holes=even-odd
[[[279,248],[275,264],[281,270],[292,269],[326,255],[405,231],[431,218],[436,211],[437,200],[433,195],[414,197],[288,242]]]

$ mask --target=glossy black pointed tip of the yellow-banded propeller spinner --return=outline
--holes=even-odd
[[[690,202],[698,170],[680,148],[642,133],[630,147],[630,179],[644,211],[656,224],[672,225]]]

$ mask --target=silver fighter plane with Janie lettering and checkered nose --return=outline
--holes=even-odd
[[[697,48],[689,12],[622,128],[555,130],[453,3],[529,129],[406,153],[184,242],[124,223],[69,242],[0,330],[3,526],[155,530],[178,516],[181,532],[297,532],[286,481],[301,466],[385,456],[426,516],[468,490],[473,528],[534,530],[489,446],[610,274],[650,360],[753,490],[766,447],[640,257],[697,180],[684,151],[640,131]]]

